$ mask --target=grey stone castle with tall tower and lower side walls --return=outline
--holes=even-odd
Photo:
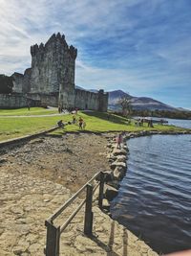
[[[94,93],[75,89],[77,50],[68,46],[64,35],[53,34],[45,45],[33,45],[31,55],[32,67],[24,75],[12,75],[14,94],[41,105],[107,111],[108,94],[103,90]]]

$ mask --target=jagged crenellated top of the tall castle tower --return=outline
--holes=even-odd
[[[45,43],[34,44],[31,46],[31,55],[32,57],[37,56],[38,54],[43,54],[45,52],[49,52],[50,50],[53,50],[57,45],[60,45],[64,51],[68,52],[72,58],[76,58],[77,56],[77,49],[74,48],[73,45],[69,47],[69,45],[66,42],[65,35],[61,35],[58,33],[57,35],[53,34],[49,40]],[[61,53],[60,53],[61,54]]]

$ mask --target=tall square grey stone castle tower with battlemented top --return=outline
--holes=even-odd
[[[74,62],[77,50],[68,46],[65,35],[53,34],[45,43],[31,47],[32,93],[59,93],[61,105],[70,105],[74,91]],[[65,101],[66,103],[63,103]]]

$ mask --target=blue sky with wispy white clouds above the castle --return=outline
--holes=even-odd
[[[30,46],[66,35],[75,84],[191,109],[190,0],[0,0],[0,74],[31,66]]]

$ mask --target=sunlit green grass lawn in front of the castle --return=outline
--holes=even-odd
[[[8,115],[12,115],[12,111],[14,111],[14,115],[17,116],[18,113],[20,115],[24,115],[26,111],[29,111],[27,108],[22,109],[14,109],[14,110],[0,110],[7,111]],[[43,113],[42,108],[35,107],[30,110],[31,114],[33,112]],[[119,117],[113,114],[100,113],[100,112],[78,112],[76,119],[81,116],[86,122],[86,130],[95,131],[95,132],[103,132],[103,131],[137,131],[137,130],[184,130],[185,128],[176,128],[174,126],[159,126],[154,125],[154,128],[148,128],[146,124],[144,127],[139,128],[135,126],[135,122],[132,121],[131,125],[128,125],[128,120],[123,117]],[[109,119],[108,119],[109,117]],[[35,132],[39,132],[41,130],[45,130],[48,128],[53,128],[56,126],[58,120],[62,119],[64,123],[68,123],[73,120],[71,114],[62,115],[62,116],[45,116],[45,117],[5,117],[0,116],[0,141],[4,141],[7,139],[21,137],[24,135],[32,134]],[[79,131],[77,125],[67,125],[64,129],[59,128],[53,131],[53,134],[64,134],[67,131]]]

